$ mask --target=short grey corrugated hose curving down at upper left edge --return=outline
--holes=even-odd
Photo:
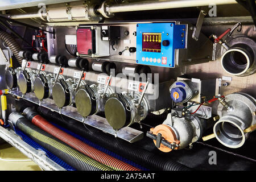
[[[21,50],[19,44],[16,40],[7,32],[0,31],[0,40],[6,43],[6,46],[11,49],[14,56],[18,60],[19,64],[22,64],[22,57],[19,56],[19,51]]]

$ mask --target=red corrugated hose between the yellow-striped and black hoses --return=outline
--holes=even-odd
[[[24,109],[23,113],[26,114],[28,120],[30,120],[34,125],[38,126],[40,129],[46,131],[53,137],[56,137],[57,139],[75,148],[82,154],[89,156],[89,158],[96,160],[97,162],[105,164],[106,166],[116,171],[140,171],[140,169],[133,167],[125,162],[122,162],[121,160],[113,158],[112,156],[105,154],[104,152],[101,152],[96,148],[91,147],[88,144],[82,142],[81,140],[73,137],[72,135],[69,135],[64,131],[58,129],[57,127],[53,126],[51,123],[46,121],[46,119],[44,119],[41,115],[36,113],[36,111],[32,110],[30,107]]]

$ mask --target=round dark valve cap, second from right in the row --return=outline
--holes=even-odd
[[[88,115],[96,113],[97,101],[93,100],[92,97],[92,94],[88,92],[85,87],[77,91],[75,98],[76,108],[82,117],[88,117]]]

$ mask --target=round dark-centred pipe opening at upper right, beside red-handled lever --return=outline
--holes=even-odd
[[[229,49],[221,57],[221,65],[224,70],[232,75],[242,75],[249,69],[250,58],[242,49]]]

